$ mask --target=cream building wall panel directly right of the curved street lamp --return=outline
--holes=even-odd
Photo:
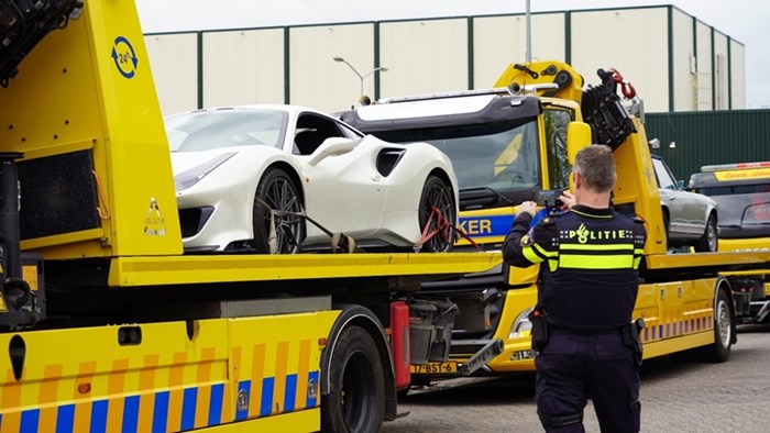
[[[382,97],[468,89],[468,20],[380,24]]]

